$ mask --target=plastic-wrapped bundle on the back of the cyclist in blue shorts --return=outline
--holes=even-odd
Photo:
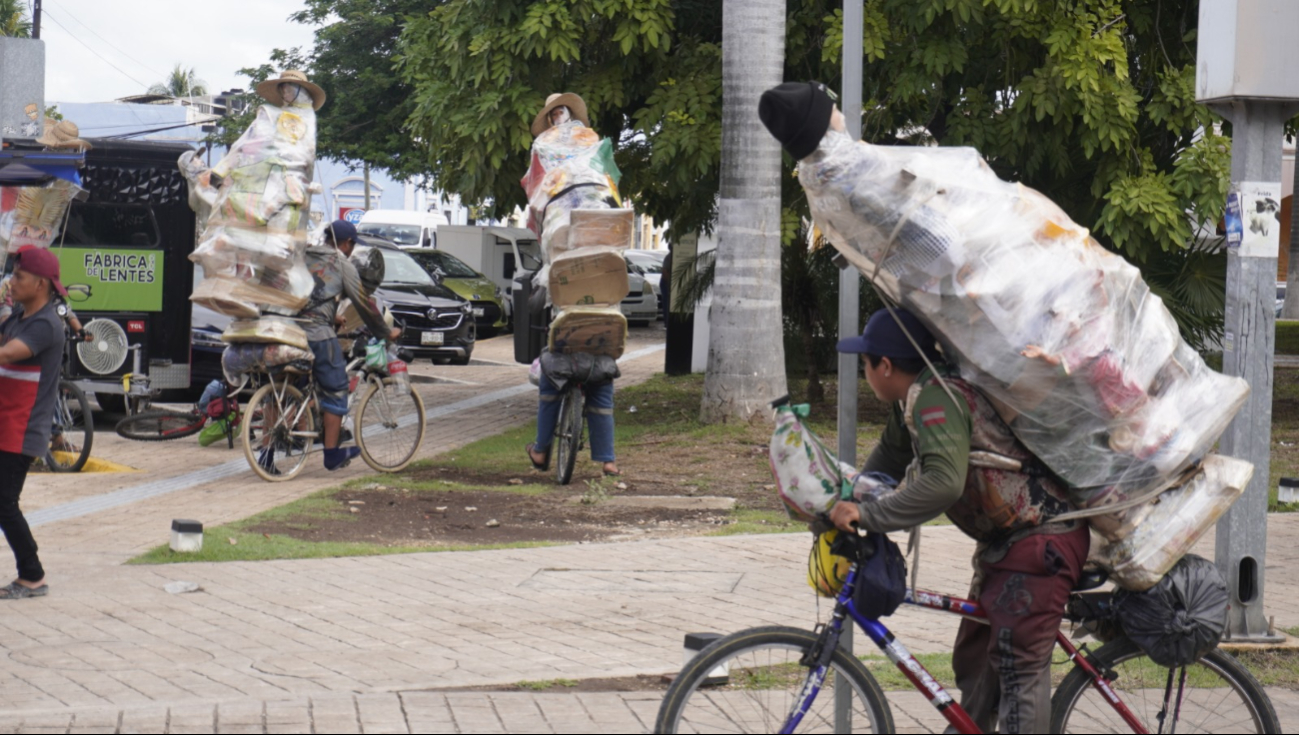
[[[194,301],[233,317],[294,316],[307,306],[313,288],[304,253],[314,161],[316,110],[309,97],[257,108],[252,125],[210,170],[196,156],[181,157],[191,206],[200,217],[209,213],[190,256],[205,277]]]

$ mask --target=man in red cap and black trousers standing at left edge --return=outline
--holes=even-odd
[[[68,296],[53,253],[22,248],[16,260],[10,282],[16,306],[0,325],[0,530],[13,549],[18,578],[0,587],[0,600],[49,592],[18,496],[31,461],[49,448],[64,357],[64,323],[55,295]]]

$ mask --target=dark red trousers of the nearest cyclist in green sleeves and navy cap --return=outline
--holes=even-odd
[[[1064,534],[1034,534],[996,562],[979,561],[970,596],[989,625],[961,621],[952,651],[961,706],[983,732],[1047,732],[1051,653],[1069,591],[1087,561],[1086,523]]]

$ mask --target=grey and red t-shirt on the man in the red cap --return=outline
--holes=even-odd
[[[55,301],[27,318],[21,305],[14,306],[0,325],[0,345],[12,339],[22,340],[31,357],[0,365],[0,452],[43,457],[64,366],[64,322]]]

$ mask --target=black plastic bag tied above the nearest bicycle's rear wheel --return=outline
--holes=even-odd
[[[1144,592],[1118,590],[1124,632],[1160,666],[1190,666],[1213,651],[1226,630],[1226,582],[1212,561],[1186,554]]]

